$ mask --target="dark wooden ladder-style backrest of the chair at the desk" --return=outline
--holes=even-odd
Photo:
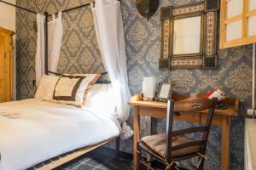
[[[168,100],[167,105],[167,119],[166,119],[166,161],[172,161],[172,151],[188,148],[195,145],[201,146],[201,154],[205,154],[207,147],[207,139],[212,123],[212,116],[217,99],[183,99],[177,102]],[[175,112],[200,112],[208,110],[207,120],[204,125],[199,127],[189,127],[177,131],[172,131],[173,116]],[[192,140],[185,144],[172,146],[172,138],[189,133],[202,133],[201,139]]]

